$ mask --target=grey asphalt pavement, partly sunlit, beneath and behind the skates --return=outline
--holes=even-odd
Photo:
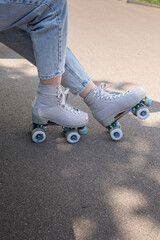
[[[160,239],[160,10],[117,0],[69,0],[68,45],[99,84],[141,85],[150,118],[128,115],[113,142],[84,102],[88,135],[76,145],[59,127],[31,142],[38,78],[0,44],[1,240]]]

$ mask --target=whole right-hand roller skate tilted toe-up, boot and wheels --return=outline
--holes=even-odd
[[[128,112],[132,112],[139,119],[146,119],[149,116],[146,106],[150,106],[152,100],[145,96],[141,87],[123,94],[108,91],[107,88],[102,83],[92,90],[84,101],[90,107],[94,118],[107,128],[112,140],[118,141],[123,137],[118,120]]]

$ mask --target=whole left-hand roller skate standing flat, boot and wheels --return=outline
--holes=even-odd
[[[41,143],[46,139],[48,125],[62,126],[70,143],[77,143],[80,135],[87,133],[88,114],[66,103],[69,89],[62,91],[60,85],[39,85],[32,104],[32,140]]]

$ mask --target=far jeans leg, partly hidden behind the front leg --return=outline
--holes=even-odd
[[[20,54],[36,66],[33,44],[30,34],[19,27],[0,32],[0,42]],[[46,80],[45,80],[46,81]],[[61,84],[77,95],[90,85],[91,79],[72,51],[66,49],[65,72],[62,74]],[[93,82],[92,82],[93,83]]]

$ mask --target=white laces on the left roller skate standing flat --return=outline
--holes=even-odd
[[[58,86],[58,91],[57,91],[56,96],[60,100],[59,101],[60,105],[70,112],[74,112],[75,114],[76,113],[80,114],[79,109],[77,109],[77,108],[75,108],[75,107],[66,103],[67,98],[68,98],[68,93],[69,93],[69,88],[65,88],[64,91],[62,91],[61,86]]]

